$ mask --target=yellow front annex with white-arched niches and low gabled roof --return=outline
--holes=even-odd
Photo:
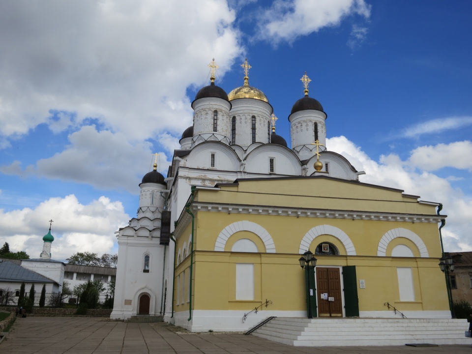
[[[174,231],[176,323],[235,330],[306,317],[298,258],[308,249],[318,260],[314,317],[398,316],[389,302],[408,318],[450,318],[444,216],[418,198],[321,174],[194,188]]]

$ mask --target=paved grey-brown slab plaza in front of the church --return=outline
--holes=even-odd
[[[125,323],[89,317],[18,318],[0,354],[461,354],[471,346],[291,347],[243,334],[179,333],[162,323]]]

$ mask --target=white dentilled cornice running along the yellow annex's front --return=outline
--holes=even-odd
[[[195,202],[192,204],[192,211],[198,212],[225,212],[228,214],[259,214],[259,215],[281,215],[295,217],[314,217],[328,219],[351,219],[351,220],[380,220],[380,221],[401,221],[401,222],[426,222],[439,223],[446,215],[424,215],[424,214],[405,214],[405,213],[387,213],[372,212],[364,210],[330,210],[330,209],[312,209],[312,208],[290,208],[290,207],[267,207],[267,206],[248,206],[234,204],[216,204]],[[182,224],[182,222],[179,223]]]

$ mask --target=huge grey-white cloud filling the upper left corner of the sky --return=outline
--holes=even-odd
[[[224,75],[242,52],[235,17],[220,0],[0,2],[0,147],[87,118],[129,139],[181,133],[186,88],[212,57]]]

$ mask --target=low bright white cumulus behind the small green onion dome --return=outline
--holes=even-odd
[[[48,220],[54,220],[52,258],[65,260],[76,252],[116,252],[115,231],[126,226],[129,216],[120,202],[100,197],[88,205],[74,195],[51,198],[37,207],[4,212],[0,209],[0,244],[13,251],[25,251],[38,258],[47,234]]]

